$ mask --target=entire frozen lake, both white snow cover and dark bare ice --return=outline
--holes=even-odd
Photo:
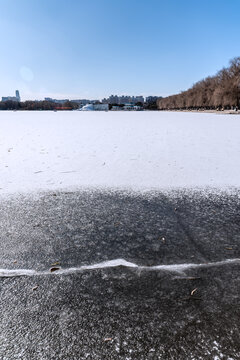
[[[240,359],[239,133],[238,115],[0,112],[0,358]]]

